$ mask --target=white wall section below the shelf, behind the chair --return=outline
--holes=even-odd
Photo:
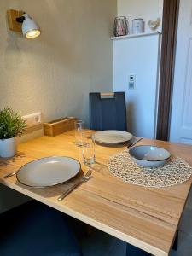
[[[160,36],[116,39],[113,42],[114,90],[125,91],[128,131],[154,138],[159,82]],[[129,75],[136,76],[129,89]]]

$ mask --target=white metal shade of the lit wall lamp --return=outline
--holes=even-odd
[[[25,38],[37,38],[41,31],[38,24],[29,15],[24,14],[25,20],[22,24],[22,32]]]

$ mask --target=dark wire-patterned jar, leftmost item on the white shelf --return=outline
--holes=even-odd
[[[118,16],[114,19],[113,34],[115,37],[128,35],[128,20],[125,16]]]

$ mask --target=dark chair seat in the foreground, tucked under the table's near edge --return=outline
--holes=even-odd
[[[65,214],[30,201],[0,215],[1,256],[82,256]]]

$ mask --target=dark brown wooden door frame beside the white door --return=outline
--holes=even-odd
[[[164,0],[156,138],[169,139],[179,0]]]

